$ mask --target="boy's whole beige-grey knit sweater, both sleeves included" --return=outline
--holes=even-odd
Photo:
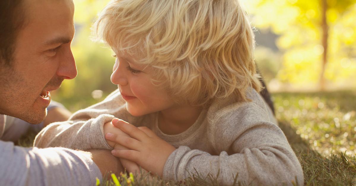
[[[74,113],[69,121],[47,126],[34,145],[111,149],[103,125],[117,117],[147,126],[177,148],[164,166],[165,180],[179,181],[196,171],[204,178],[220,171],[221,185],[231,185],[236,175],[243,185],[303,185],[302,167],[271,110],[252,88],[248,98],[252,102],[216,100],[188,130],[167,135],[158,128],[157,113],[133,117],[115,91],[103,102]]]

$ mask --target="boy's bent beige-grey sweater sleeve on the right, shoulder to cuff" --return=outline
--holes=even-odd
[[[178,181],[197,173],[204,179],[220,171],[220,185],[232,185],[236,175],[242,185],[303,185],[302,167],[282,130],[253,113],[258,110],[242,107],[222,115],[208,131],[219,155],[180,146],[168,157],[163,179]]]

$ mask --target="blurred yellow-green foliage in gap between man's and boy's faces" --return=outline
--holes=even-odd
[[[72,51],[77,64],[78,76],[65,80],[62,87],[52,94],[53,100],[63,103],[70,111],[88,107],[102,100],[117,86],[110,82],[114,57],[109,47],[91,41],[91,25],[108,0],[74,0],[75,35]],[[103,91],[94,99],[93,91]]]

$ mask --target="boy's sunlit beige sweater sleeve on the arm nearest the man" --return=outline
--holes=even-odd
[[[37,134],[33,145],[38,148],[111,150],[103,126],[115,118],[112,114],[124,110],[125,102],[119,93],[114,91],[103,102],[75,112],[68,121],[49,124]]]

